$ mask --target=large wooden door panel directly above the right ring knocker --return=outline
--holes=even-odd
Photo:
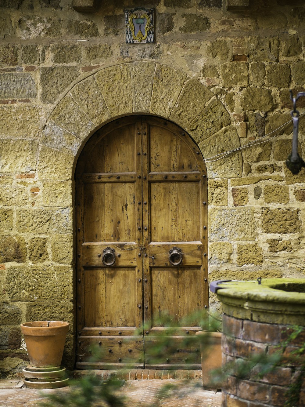
[[[200,241],[199,182],[150,182],[150,239]]]

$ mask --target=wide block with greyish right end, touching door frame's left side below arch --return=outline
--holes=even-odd
[[[16,213],[17,230],[22,233],[69,233],[71,208],[20,209]]]

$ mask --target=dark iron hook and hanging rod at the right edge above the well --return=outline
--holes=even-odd
[[[293,135],[292,135],[292,151],[286,160],[286,165],[292,172],[292,174],[298,174],[301,168],[305,167],[305,162],[303,158],[298,155],[298,116],[299,112],[296,110],[296,102],[301,96],[305,96],[305,92],[299,92],[296,97],[293,97],[292,90],[290,90],[290,99],[293,102],[293,109],[291,111],[291,116],[293,120]]]

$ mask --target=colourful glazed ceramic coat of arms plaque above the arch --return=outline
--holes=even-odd
[[[155,42],[154,9],[125,10],[126,44]]]

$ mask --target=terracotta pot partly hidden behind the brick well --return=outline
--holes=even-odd
[[[207,390],[221,389],[221,383],[212,371],[222,366],[221,332],[199,331],[203,387]]]

